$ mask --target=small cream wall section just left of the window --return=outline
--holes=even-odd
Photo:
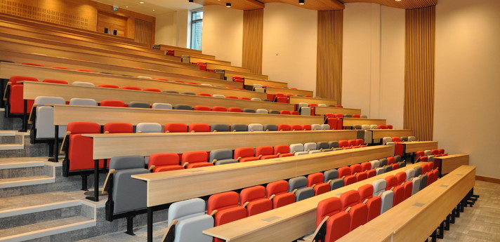
[[[188,10],[173,11],[156,17],[154,43],[186,48]]]

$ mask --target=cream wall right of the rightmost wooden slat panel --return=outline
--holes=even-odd
[[[471,155],[477,175],[500,179],[500,1],[436,6],[434,140]]]

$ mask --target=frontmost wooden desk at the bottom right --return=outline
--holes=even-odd
[[[425,241],[474,184],[475,166],[460,166],[338,242]]]

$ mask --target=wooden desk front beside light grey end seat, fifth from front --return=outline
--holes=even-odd
[[[235,112],[207,112],[171,109],[145,109],[133,107],[89,107],[76,105],[54,105],[54,124],[70,122],[94,122],[103,126],[109,122],[138,123],[322,123],[320,116],[252,114]]]

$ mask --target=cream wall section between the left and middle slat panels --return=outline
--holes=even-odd
[[[262,73],[289,87],[316,90],[317,11],[265,4]]]

